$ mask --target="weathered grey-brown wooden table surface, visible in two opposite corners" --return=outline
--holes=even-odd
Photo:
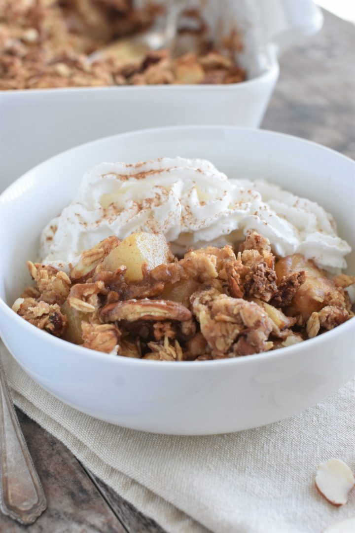
[[[320,34],[292,47],[262,127],[316,141],[355,158],[355,26],[325,12]],[[0,533],[163,533],[18,410],[47,510],[20,526],[0,514]]]

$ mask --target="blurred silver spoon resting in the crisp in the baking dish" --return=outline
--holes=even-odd
[[[188,0],[169,0],[163,28],[153,27],[138,35],[118,39],[90,54],[87,58],[89,63],[108,58],[122,63],[137,63],[147,52],[170,49],[175,41],[179,17],[187,4]]]

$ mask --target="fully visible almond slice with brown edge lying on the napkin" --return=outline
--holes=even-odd
[[[318,466],[316,487],[329,503],[344,505],[354,484],[353,473],[344,461],[329,459]]]

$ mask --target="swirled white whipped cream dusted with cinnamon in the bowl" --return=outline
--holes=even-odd
[[[116,235],[164,233],[173,253],[224,246],[255,230],[275,254],[300,253],[329,272],[351,251],[332,215],[263,180],[228,179],[207,160],[161,158],[102,163],[85,173],[77,198],[44,229],[41,256],[68,270],[81,252]]]

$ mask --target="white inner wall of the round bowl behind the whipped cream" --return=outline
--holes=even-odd
[[[353,252],[355,163],[291,136],[222,126],[145,130],[83,144],[48,159],[0,197],[0,296],[9,304],[28,285],[26,261],[37,258],[45,224],[76,196],[82,174],[102,161],[135,163],[156,157],[207,158],[229,177],[264,177],[331,212]]]

